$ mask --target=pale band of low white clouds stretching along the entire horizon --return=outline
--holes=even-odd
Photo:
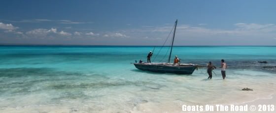
[[[52,20],[40,19],[40,22]],[[63,22],[70,22],[63,20]],[[178,25],[176,45],[276,45],[276,25],[256,23],[236,23],[232,28],[208,28],[208,24]],[[136,28],[116,29],[113,31],[93,32],[75,28],[35,28],[29,31],[17,31],[12,24],[0,23],[2,33],[11,33],[36,39],[83,40],[83,44],[96,45],[161,45],[172,31],[172,24],[160,26],[141,26]],[[91,30],[91,29],[90,29]],[[0,30],[1,31],[1,30]],[[1,32],[0,32],[1,34]],[[172,36],[172,34],[171,34]],[[3,37],[3,35],[2,35]],[[12,42],[13,40],[10,40]],[[23,41],[24,42],[24,41]],[[51,41],[52,42],[52,41]],[[50,43],[51,43],[50,42]]]

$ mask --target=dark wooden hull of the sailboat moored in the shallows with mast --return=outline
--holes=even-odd
[[[140,70],[158,73],[177,73],[191,75],[197,69],[194,64],[173,65],[172,63],[134,63]]]

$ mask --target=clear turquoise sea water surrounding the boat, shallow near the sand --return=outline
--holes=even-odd
[[[174,47],[182,63],[205,65],[220,59],[226,80],[214,70],[193,75],[144,72],[133,62],[154,50],[166,62],[168,47],[0,46],[1,113],[177,113],[182,104],[242,103],[276,92],[275,46]],[[160,52],[159,52],[160,51]],[[159,54],[158,54],[159,53]],[[156,55],[158,56],[156,57]],[[165,56],[165,57],[164,57]],[[163,58],[164,57],[164,58]],[[268,61],[267,64],[255,63]],[[252,87],[252,92],[240,89]]]

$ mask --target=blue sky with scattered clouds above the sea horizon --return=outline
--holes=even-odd
[[[275,0],[1,0],[0,44],[276,45]]]

